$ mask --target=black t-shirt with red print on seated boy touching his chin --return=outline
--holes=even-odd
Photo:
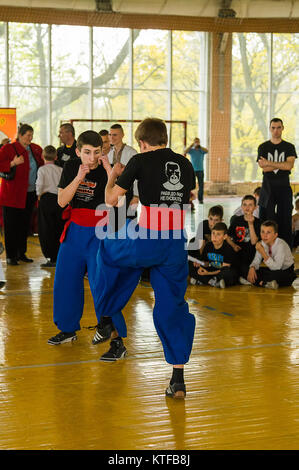
[[[254,218],[254,231],[256,236],[260,238],[261,221]],[[255,245],[250,241],[249,224],[243,215],[232,217],[231,224],[228,229],[228,235],[233,239],[236,245],[239,245],[242,250],[239,253],[241,258],[246,258],[246,261],[251,262],[255,255]]]

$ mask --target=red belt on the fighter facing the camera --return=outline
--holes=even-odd
[[[97,215],[96,215],[97,214]],[[66,220],[63,232],[60,236],[60,243],[65,239],[68,226],[71,222],[82,227],[96,227],[97,225],[107,225],[109,221],[109,211],[95,211],[94,209],[73,209],[67,206],[63,213],[62,218]]]

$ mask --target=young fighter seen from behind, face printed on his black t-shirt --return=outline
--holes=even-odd
[[[166,148],[167,129],[160,119],[145,119],[135,137],[141,153],[133,156],[125,168],[116,163],[106,186],[106,203],[115,206],[137,180],[142,207],[137,225],[127,221],[126,231],[122,230],[117,239],[108,233],[100,244],[97,308],[102,315],[112,317],[117,330],[110,350],[101,360],[116,361],[126,355],[122,309],[141,272],[150,267],[154,324],[165,359],[173,365],[166,395],[179,398],[186,394],[183,368],[189,360],[195,328],[194,316],[184,299],[188,276],[184,217],[190,191],[195,188],[195,175],[188,159]]]

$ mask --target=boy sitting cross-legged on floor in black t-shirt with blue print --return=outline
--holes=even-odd
[[[226,224],[215,224],[211,241],[203,249],[202,262],[197,265],[196,284],[208,284],[224,289],[237,283],[236,254],[226,238]]]

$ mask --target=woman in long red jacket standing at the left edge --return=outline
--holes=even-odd
[[[31,263],[27,258],[27,236],[36,202],[35,181],[38,168],[43,165],[42,148],[32,144],[33,128],[21,124],[18,136],[12,144],[0,148],[0,172],[16,167],[11,180],[2,178],[0,205],[3,207],[6,262],[18,265],[18,261]]]

